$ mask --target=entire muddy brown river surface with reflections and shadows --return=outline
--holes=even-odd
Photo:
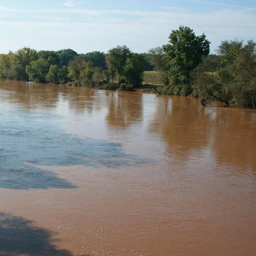
[[[0,255],[256,255],[256,111],[0,82]]]

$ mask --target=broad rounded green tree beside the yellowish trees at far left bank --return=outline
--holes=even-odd
[[[45,83],[46,74],[49,70],[49,64],[44,59],[33,60],[27,65],[26,72],[29,76],[29,81],[35,83]]]

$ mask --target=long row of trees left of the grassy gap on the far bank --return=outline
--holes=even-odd
[[[30,47],[0,54],[3,79],[92,88],[131,90],[142,84],[144,71],[153,67],[149,54],[132,53],[126,45],[118,45],[107,54],[77,54],[72,49],[36,51]]]

